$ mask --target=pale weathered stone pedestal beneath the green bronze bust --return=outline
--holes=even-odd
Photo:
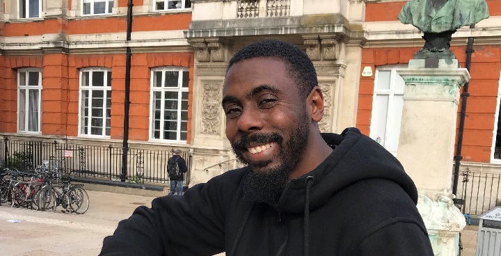
[[[397,70],[405,81],[397,158],[417,186],[417,209],[435,255],[456,256],[466,221],[452,202],[452,165],[459,91],[470,74],[457,60],[424,64],[411,60]]]

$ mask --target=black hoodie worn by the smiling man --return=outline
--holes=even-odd
[[[248,200],[249,168],[231,170],[138,207],[100,255],[433,255],[399,161],[355,128],[322,136],[332,154],[278,207]]]

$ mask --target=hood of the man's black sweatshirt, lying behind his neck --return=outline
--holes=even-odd
[[[278,203],[279,211],[300,213],[305,210],[306,204],[314,210],[324,205],[337,191],[364,179],[395,182],[417,203],[417,189],[411,177],[379,143],[356,128],[347,128],[342,134],[321,135],[333,147],[333,152],[310,173],[287,184]],[[307,185],[308,181],[310,185]]]

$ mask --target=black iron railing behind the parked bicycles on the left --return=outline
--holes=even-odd
[[[127,150],[127,179],[129,182],[168,183],[167,161],[173,156],[174,148],[151,150],[129,147]],[[0,145],[0,166],[15,167],[33,171],[43,160],[51,160],[51,168],[56,159],[63,173],[78,177],[106,178],[120,180],[122,174],[122,147],[113,145],[84,145],[76,143],[52,143],[42,141],[20,141],[3,138]],[[181,154],[186,160],[188,173],[184,183],[190,182],[191,156]]]

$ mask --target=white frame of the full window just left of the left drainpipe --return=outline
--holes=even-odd
[[[84,74],[84,72],[89,72],[89,86],[83,86],[82,85],[82,76]],[[105,72],[105,77],[104,77],[104,81],[103,81],[103,84],[104,86],[92,86],[91,83],[92,83],[92,79],[93,79],[93,72]],[[106,68],[106,67],[86,67],[86,68],[81,68],[79,70],[79,127],[78,127],[78,131],[79,131],[79,136],[85,136],[85,137],[93,137],[93,138],[110,138],[109,135],[106,135],[106,98],[108,97],[109,94],[111,94],[111,84],[109,85],[108,84],[108,77],[106,76],[110,76],[111,77],[111,69],[110,68]],[[90,106],[88,106],[89,110],[88,110],[88,124],[87,124],[87,133],[83,133],[82,132],[82,128],[83,128],[83,120],[84,118],[86,118],[84,115],[83,112],[83,107],[82,104],[84,104],[84,102],[82,102],[82,93],[84,90],[89,90],[89,101],[88,101],[88,104],[90,106],[92,106],[92,102],[91,100],[93,99],[92,97],[92,92],[93,91],[96,91],[96,90],[104,90],[106,93],[104,94],[103,96],[103,105],[102,105],[102,109],[104,110],[103,111],[103,124],[102,124],[102,134],[99,135],[99,134],[90,134],[90,129],[91,129],[91,122],[92,122],[92,118],[93,118],[93,115],[92,115],[92,109]],[[110,95],[111,97],[111,95]],[[111,102],[110,102],[111,104]],[[110,113],[111,113],[111,108],[110,108]],[[110,115],[110,132],[111,132],[111,115]]]

